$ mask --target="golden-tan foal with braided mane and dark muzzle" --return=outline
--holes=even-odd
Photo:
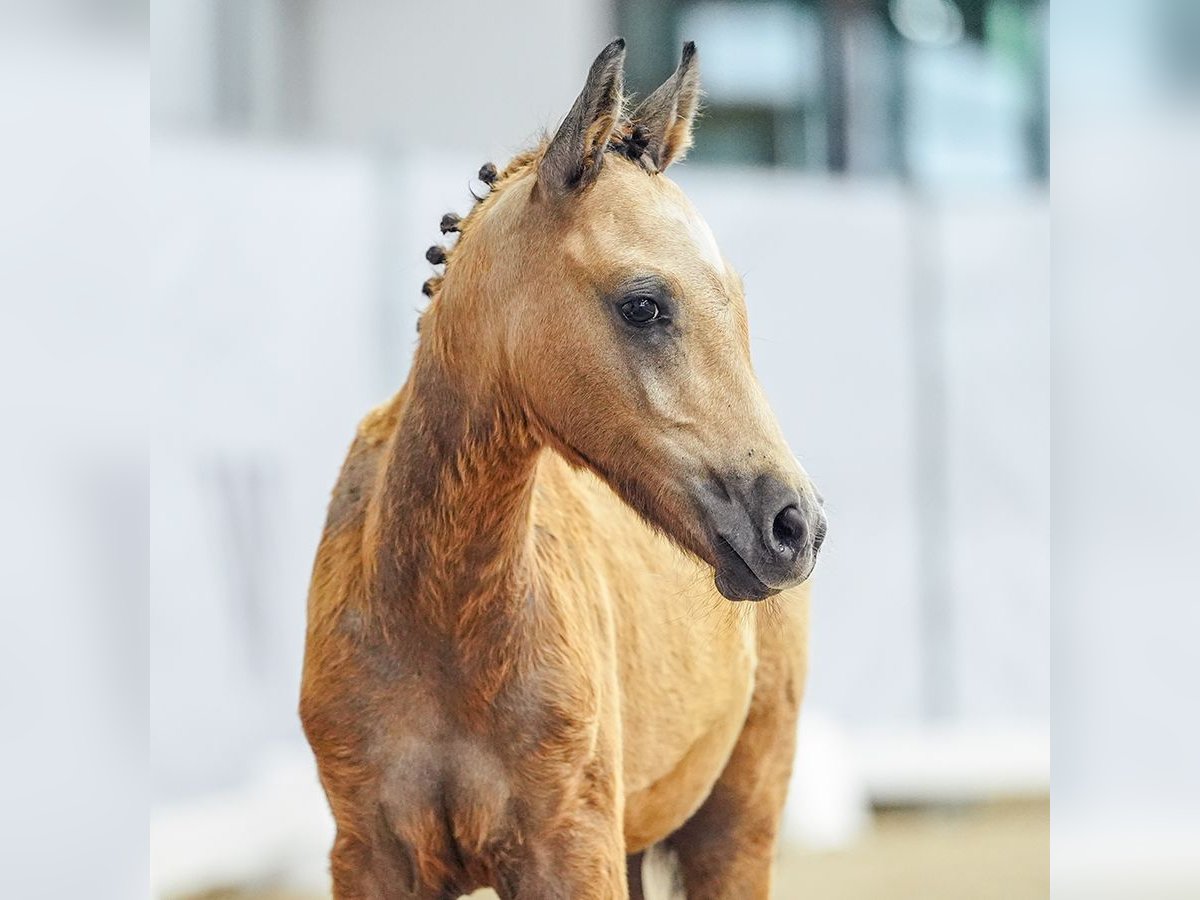
[[[338,900],[636,899],[647,851],[689,898],[768,896],[826,521],[664,174],[695,46],[632,112],[623,68],[618,38],[442,221],[334,488],[300,716]]]

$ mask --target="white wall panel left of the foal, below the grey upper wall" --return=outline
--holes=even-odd
[[[377,181],[360,157],[160,148],[151,752],[176,797],[296,740],[308,570],[378,401]]]

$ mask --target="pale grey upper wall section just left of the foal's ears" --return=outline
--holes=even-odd
[[[594,0],[336,0],[312,16],[317,133],[416,149],[486,134],[509,155],[565,115],[614,34]]]

